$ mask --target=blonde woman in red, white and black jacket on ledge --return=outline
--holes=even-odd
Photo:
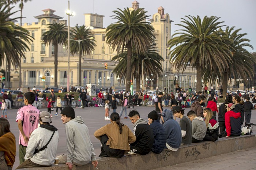
[[[206,135],[203,141],[215,142],[219,138],[219,124],[216,120],[216,116],[210,108],[205,108],[203,111],[204,121],[207,127]]]

